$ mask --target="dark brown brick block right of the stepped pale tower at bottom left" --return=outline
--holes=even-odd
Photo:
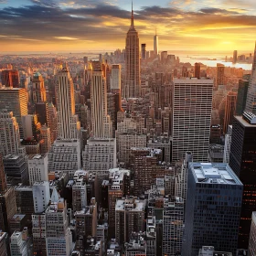
[[[91,198],[90,206],[75,212],[76,219],[76,246],[77,251],[85,249],[88,237],[96,237],[97,234],[97,202]]]

